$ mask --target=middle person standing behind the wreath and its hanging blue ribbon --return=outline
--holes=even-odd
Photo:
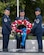
[[[25,17],[25,11],[23,9],[20,10],[20,17],[16,17],[16,20],[27,20],[29,21],[29,19],[27,17]],[[17,49],[25,49],[25,42],[26,42],[26,27],[19,27],[20,30],[23,31],[22,37],[18,37],[16,35],[16,40],[17,40]]]

